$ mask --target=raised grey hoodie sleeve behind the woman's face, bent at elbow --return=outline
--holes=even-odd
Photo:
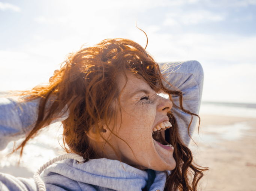
[[[164,63],[159,64],[160,68],[163,64]],[[169,75],[164,75],[167,81],[183,93],[184,109],[198,114],[204,82],[204,71],[201,64],[195,60],[186,61],[179,65],[178,63],[174,63],[174,65],[170,66],[166,71],[162,72],[162,74],[168,73]],[[172,89],[172,87],[170,87],[168,84],[164,84],[166,88]],[[173,101],[178,106],[180,105],[178,96],[174,96]],[[174,107],[172,108],[172,112],[174,113],[177,120],[181,138],[186,145],[189,145],[189,134],[192,136],[195,130],[197,117],[193,116],[193,121],[188,134],[187,128],[191,120],[191,115],[186,114]]]

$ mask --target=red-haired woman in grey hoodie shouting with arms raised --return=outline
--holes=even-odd
[[[187,145],[202,67],[190,61],[179,69],[163,65],[162,72],[169,76],[139,44],[106,39],[70,54],[48,85],[18,101],[1,98],[0,149],[25,137],[22,154],[40,129],[62,121],[65,150],[75,154],[44,165],[35,182],[0,173],[0,188],[195,191],[206,169],[193,163]]]

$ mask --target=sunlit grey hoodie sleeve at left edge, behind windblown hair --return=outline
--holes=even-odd
[[[50,101],[47,104],[50,104]],[[22,102],[13,98],[0,98],[0,150],[6,148],[11,141],[25,138],[33,129],[37,120],[38,106],[39,99]],[[69,111],[66,106],[63,115],[52,123],[63,121],[68,116]]]

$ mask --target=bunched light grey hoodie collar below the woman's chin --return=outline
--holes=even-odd
[[[63,163],[51,165],[42,173],[42,177],[58,173],[77,182],[95,185],[112,190],[163,191],[166,173],[154,170],[139,170],[118,160],[92,159],[81,165],[68,159]]]

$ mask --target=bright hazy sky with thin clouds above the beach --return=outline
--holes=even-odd
[[[0,0],[0,91],[46,83],[82,44],[129,38],[197,60],[203,101],[256,103],[256,0]]]

